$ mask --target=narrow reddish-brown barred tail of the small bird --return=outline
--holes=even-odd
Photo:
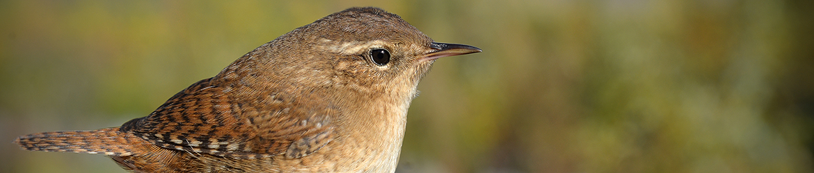
[[[119,128],[90,131],[33,133],[17,137],[14,142],[25,150],[129,156],[134,140],[140,140]]]

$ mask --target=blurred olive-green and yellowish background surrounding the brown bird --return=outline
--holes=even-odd
[[[125,172],[23,134],[147,116],[277,36],[379,6],[439,42],[398,172],[812,172],[814,2],[0,1],[0,172]]]

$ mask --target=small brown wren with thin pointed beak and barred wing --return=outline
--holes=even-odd
[[[120,127],[33,133],[24,150],[104,154],[132,172],[394,172],[418,82],[445,44],[352,7],[260,45]]]

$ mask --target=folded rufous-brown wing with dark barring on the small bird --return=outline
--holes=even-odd
[[[300,158],[333,139],[330,108],[274,99],[256,108],[230,98],[228,89],[210,85],[211,79],[196,82],[120,130],[167,149],[231,158]]]

